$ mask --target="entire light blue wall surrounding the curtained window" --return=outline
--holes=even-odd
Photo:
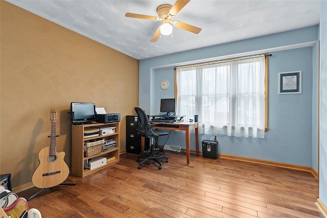
[[[273,56],[269,58],[268,133],[265,134],[264,139],[219,135],[219,150],[222,154],[227,155],[311,167],[313,165],[313,46],[318,38],[317,29],[317,26],[309,27],[141,60],[139,63],[139,104],[148,114],[157,114],[160,98],[174,97],[175,74],[173,67],[178,64],[214,57],[270,51],[269,53]],[[290,49],[294,46],[303,48]],[[278,72],[296,70],[302,71],[302,94],[278,95]],[[149,76],[150,74],[151,76]],[[160,89],[160,82],[164,79],[168,79],[171,83],[170,88],[165,91]],[[146,94],[146,90],[154,91],[151,98],[149,94]],[[199,139],[201,149],[201,141],[213,139],[213,136],[200,135]],[[164,140],[161,139],[159,144],[163,143]],[[184,133],[172,131],[166,144],[185,148]],[[195,149],[194,135],[191,135],[191,149]]]

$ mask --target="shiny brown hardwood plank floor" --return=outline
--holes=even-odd
[[[162,169],[137,169],[137,155],[85,178],[76,186],[46,189],[29,201],[42,217],[324,217],[315,202],[318,180],[281,167],[167,152]],[[30,198],[38,188],[18,193]]]

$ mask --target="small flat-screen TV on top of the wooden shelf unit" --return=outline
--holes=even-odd
[[[96,104],[71,102],[71,121],[74,124],[96,122]]]

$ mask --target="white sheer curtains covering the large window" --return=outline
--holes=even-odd
[[[177,68],[176,113],[199,132],[264,138],[265,56]]]

